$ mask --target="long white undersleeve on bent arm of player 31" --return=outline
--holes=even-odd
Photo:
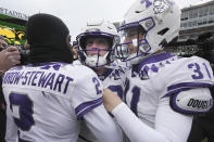
[[[124,103],[112,114],[131,142],[185,142],[192,117],[174,112],[168,102],[165,98],[158,107],[154,129],[142,122]]]

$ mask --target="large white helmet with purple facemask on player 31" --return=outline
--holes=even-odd
[[[130,64],[138,64],[144,56],[163,49],[178,37],[180,28],[180,9],[172,0],[137,0],[124,16],[118,28],[121,43],[116,48],[117,56]],[[127,42],[128,30],[137,30],[136,39]],[[139,33],[143,31],[142,38]],[[137,48],[128,53],[128,44]]]

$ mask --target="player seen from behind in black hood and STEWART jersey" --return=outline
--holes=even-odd
[[[53,15],[35,14],[28,18],[26,36],[29,64],[3,76],[7,141],[76,142],[85,119],[99,141],[121,142],[103,107],[98,76],[87,66],[71,64],[66,25]]]

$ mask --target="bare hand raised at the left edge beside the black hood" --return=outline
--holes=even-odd
[[[15,47],[8,47],[0,52],[0,70],[8,70],[21,63],[21,55]]]

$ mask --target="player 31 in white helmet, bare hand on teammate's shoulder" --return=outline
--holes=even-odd
[[[179,27],[180,9],[174,1],[137,0],[118,29],[116,53],[131,64],[126,104],[108,89],[103,102],[131,142],[186,142],[192,115],[212,107],[210,63],[163,51]]]

